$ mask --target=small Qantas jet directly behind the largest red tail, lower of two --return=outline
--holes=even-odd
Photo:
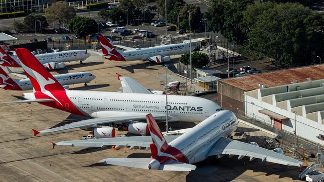
[[[8,69],[8,68],[7,68]],[[3,70],[0,68],[0,88],[4,90],[14,90],[14,91],[25,91],[32,90],[30,80],[26,75],[13,73],[8,69],[8,72],[12,75],[23,78],[22,80],[10,78]],[[77,73],[67,73],[53,76],[65,89],[68,89],[68,85],[84,83],[90,83],[96,78],[88,72],[77,72]]]

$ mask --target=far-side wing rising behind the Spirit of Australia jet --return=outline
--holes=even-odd
[[[141,84],[136,82],[134,79],[130,77],[119,77],[121,80],[122,88],[124,93],[150,93],[151,91],[147,90]]]

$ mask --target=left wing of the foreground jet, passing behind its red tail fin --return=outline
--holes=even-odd
[[[164,136],[166,142],[171,142],[178,136]],[[115,137],[115,138],[98,138],[91,140],[72,140],[55,143],[57,146],[72,146],[72,147],[104,147],[104,146],[137,146],[150,147],[152,144],[151,136],[131,136],[131,137]]]

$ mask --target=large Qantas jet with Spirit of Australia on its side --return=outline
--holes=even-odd
[[[17,48],[15,51],[34,87],[34,92],[23,93],[26,100],[2,103],[39,102],[70,113],[94,117],[40,133],[71,128],[92,129],[97,125],[109,123],[135,123],[145,120],[148,113],[164,121],[166,108],[169,121],[188,122],[202,121],[221,110],[215,102],[195,96],[169,95],[166,106],[165,95],[142,93],[143,89],[135,93],[65,90],[27,49]],[[34,130],[35,135],[38,133]]]

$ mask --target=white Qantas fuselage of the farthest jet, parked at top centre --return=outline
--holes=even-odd
[[[120,51],[120,54],[125,58],[126,61],[134,60],[147,60],[151,57],[160,56],[170,56],[189,52],[189,44],[171,44],[162,45],[149,48],[137,48],[128,51]]]

